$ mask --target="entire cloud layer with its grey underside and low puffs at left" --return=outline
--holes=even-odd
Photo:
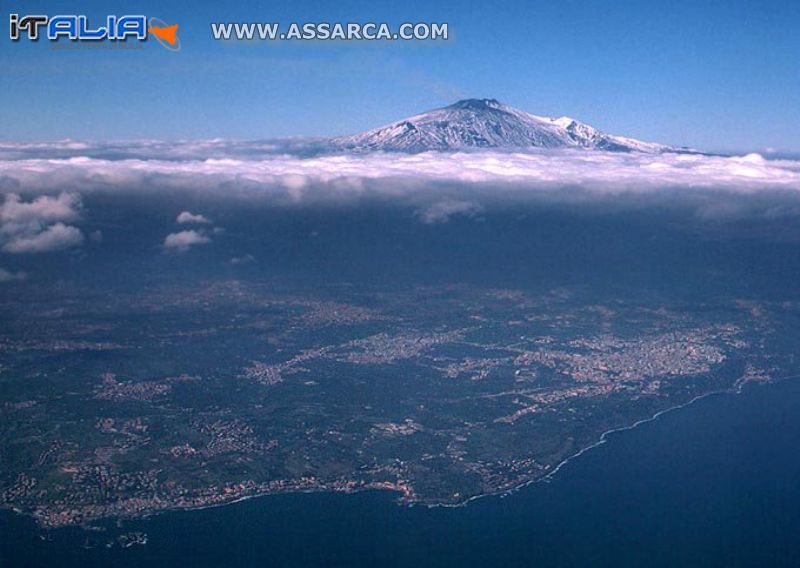
[[[0,144],[0,260],[8,255],[2,265],[27,268],[11,256],[100,243],[96,227],[115,196],[123,196],[120,207],[141,201],[150,212],[166,208],[170,226],[142,235],[165,253],[225,245],[217,223],[234,229],[231,211],[254,201],[287,208],[399,204],[403,215],[430,226],[425,231],[486,221],[495,208],[525,215],[517,206],[529,202],[601,213],[647,207],[657,215],[676,207],[675,218],[691,226],[747,218],[766,222],[770,237],[800,238],[800,160],[585,150],[334,155],[287,148],[224,141]],[[215,207],[222,203],[232,207]],[[230,260],[249,262],[254,257],[244,251]],[[0,269],[0,282],[22,278]]]

